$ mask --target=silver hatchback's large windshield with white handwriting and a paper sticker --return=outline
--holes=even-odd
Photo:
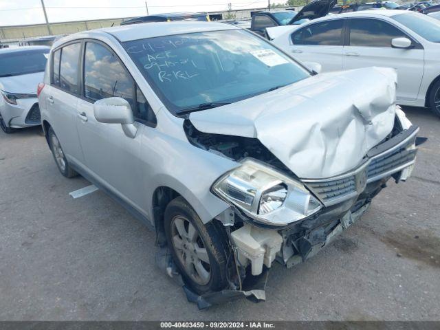
[[[310,76],[292,58],[244,30],[162,36],[123,45],[173,113],[244,100]]]

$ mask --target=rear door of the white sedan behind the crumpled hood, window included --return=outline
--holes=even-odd
[[[342,27],[344,19],[311,23],[296,30],[290,38],[290,52],[300,61],[317,62],[323,72],[342,69]]]

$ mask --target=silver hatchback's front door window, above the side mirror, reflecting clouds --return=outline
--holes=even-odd
[[[98,43],[85,44],[84,95],[91,100],[117,96],[134,109],[133,80],[118,58]]]

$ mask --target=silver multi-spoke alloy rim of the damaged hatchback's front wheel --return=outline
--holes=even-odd
[[[198,285],[206,285],[211,278],[208,250],[192,223],[179,215],[171,221],[171,241],[186,274]]]

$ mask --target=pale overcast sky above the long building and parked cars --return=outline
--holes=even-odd
[[[45,0],[44,2],[50,22],[146,15],[144,0]],[[147,2],[150,14],[226,10],[229,2],[232,3],[232,9],[261,8],[267,5],[267,0],[147,0]],[[45,23],[41,0],[0,0],[0,26],[36,23]]]

